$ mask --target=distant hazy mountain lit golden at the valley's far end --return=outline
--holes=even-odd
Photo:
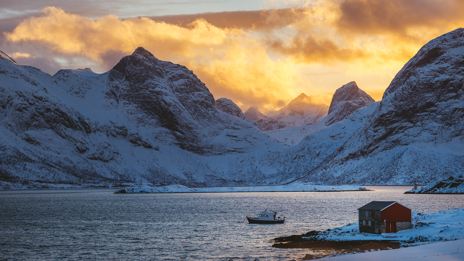
[[[302,93],[278,111],[263,115],[258,108],[251,107],[245,112],[245,116],[255,121],[263,131],[269,131],[316,123],[326,116],[328,111],[329,106],[321,98]]]

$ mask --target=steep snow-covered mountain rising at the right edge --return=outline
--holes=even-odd
[[[464,164],[464,29],[433,39],[394,77],[369,120],[301,180],[421,184]]]

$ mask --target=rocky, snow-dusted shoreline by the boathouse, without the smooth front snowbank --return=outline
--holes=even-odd
[[[368,234],[359,233],[357,223],[327,229],[312,230],[301,235],[274,238],[273,248],[304,248],[308,254],[300,260],[319,259],[325,256],[353,255],[406,248],[431,242],[461,239],[462,216],[464,209],[443,210],[433,213],[413,212],[412,229],[398,233]]]

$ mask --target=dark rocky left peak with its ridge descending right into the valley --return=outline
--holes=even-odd
[[[245,152],[258,145],[248,135],[230,137],[227,129],[265,136],[251,123],[218,110],[213,95],[192,71],[160,61],[142,47],[123,57],[108,74],[116,102],[135,106],[144,115],[138,123],[158,127],[155,139],[165,144],[173,142],[185,150],[212,155]],[[234,145],[222,148],[220,141],[229,143],[231,138]]]

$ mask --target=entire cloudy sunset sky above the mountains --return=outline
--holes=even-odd
[[[138,46],[187,66],[244,111],[355,81],[380,101],[428,41],[464,27],[462,0],[2,0],[0,50],[19,64],[110,70]]]

